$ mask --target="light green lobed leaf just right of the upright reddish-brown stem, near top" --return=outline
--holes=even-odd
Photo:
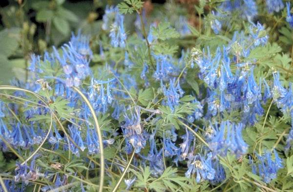
[[[180,34],[170,26],[169,22],[160,22],[157,27],[152,26],[152,35],[160,40],[167,40],[168,38],[179,38]]]

